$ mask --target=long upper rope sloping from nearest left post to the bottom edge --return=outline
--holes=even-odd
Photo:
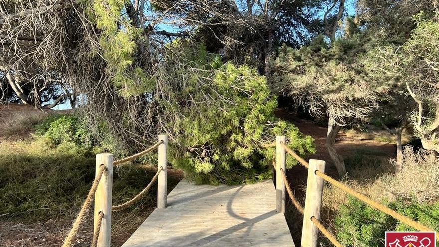
[[[73,245],[73,237],[75,237],[75,235],[78,233],[79,227],[84,221],[84,217],[87,215],[88,211],[90,210],[90,204],[93,201],[94,194],[96,193],[96,189],[98,188],[99,185],[99,181],[102,178],[102,174],[104,174],[104,171],[106,170],[107,169],[105,168],[104,165],[100,166],[99,173],[96,175],[96,178],[93,180],[93,185],[91,186],[91,189],[88,192],[87,198],[85,198],[84,204],[82,205],[82,208],[79,211],[79,214],[75,219],[75,222],[73,223],[72,229],[70,229],[69,234],[65,238],[62,247],[70,247]]]

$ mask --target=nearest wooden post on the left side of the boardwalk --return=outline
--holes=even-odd
[[[96,189],[94,196],[94,229],[99,224],[99,212],[104,213],[101,231],[99,233],[97,247],[110,247],[111,242],[111,205],[113,190],[113,154],[96,155],[96,174],[100,166],[107,168],[102,174],[101,181]]]

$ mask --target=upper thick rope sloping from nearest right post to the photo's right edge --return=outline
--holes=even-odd
[[[314,172],[315,172],[315,174],[317,176],[320,176],[321,178],[323,178],[324,180],[328,181],[329,183],[337,186],[338,188],[344,190],[345,192],[351,194],[352,196],[354,196],[354,197],[360,199],[361,201],[369,204],[373,208],[378,209],[378,210],[380,210],[380,211],[382,211],[382,212],[384,212],[384,213],[394,217],[395,219],[398,219],[399,221],[405,223],[406,225],[409,225],[409,226],[411,226],[413,228],[416,228],[419,231],[434,232],[432,229],[421,225],[420,223],[418,223],[418,222],[408,218],[407,216],[401,215],[400,213],[398,213],[398,212],[396,212],[396,211],[394,211],[392,209],[389,209],[388,207],[386,207],[386,206],[384,206],[384,205],[382,205],[380,203],[375,202],[374,200],[368,198],[367,196],[365,196],[365,195],[363,195],[361,193],[356,192],[355,190],[353,190],[353,189],[349,188],[348,186],[346,186],[345,184],[340,183],[339,181],[329,177],[328,175],[322,173],[321,171],[315,170]],[[439,233],[438,232],[436,233],[436,238],[439,239]]]

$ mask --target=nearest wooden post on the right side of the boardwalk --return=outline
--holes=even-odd
[[[305,212],[303,213],[301,247],[317,247],[319,230],[311,221],[311,217],[320,219],[322,207],[323,178],[315,171],[325,172],[325,161],[309,160],[308,179],[306,182]]]

